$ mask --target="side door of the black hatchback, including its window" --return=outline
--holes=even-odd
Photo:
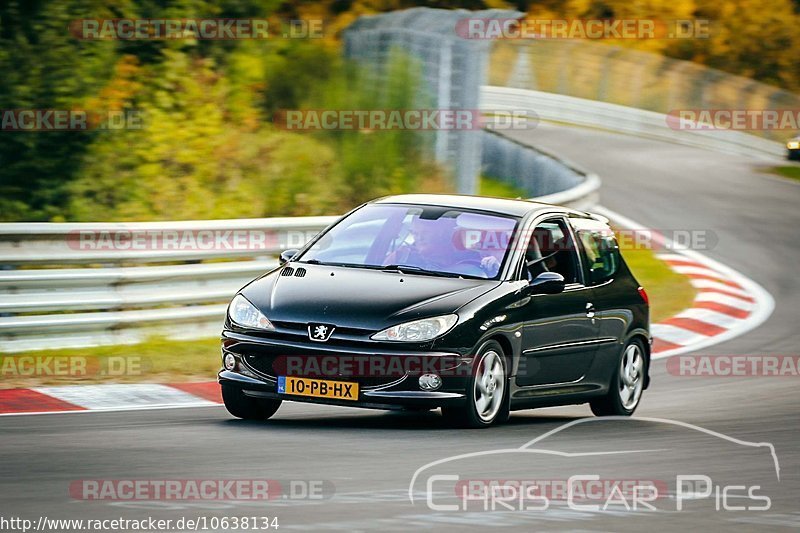
[[[592,291],[584,284],[575,237],[564,217],[538,221],[530,231],[520,275],[532,279],[542,271],[558,272],[566,285],[560,294],[532,294],[525,306],[520,386],[579,381],[596,350]]]

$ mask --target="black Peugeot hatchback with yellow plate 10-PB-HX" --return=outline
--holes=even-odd
[[[485,427],[588,402],[630,415],[649,382],[647,294],[606,219],[542,203],[403,195],[366,203],[231,301],[228,411],[284,400],[442,408]]]

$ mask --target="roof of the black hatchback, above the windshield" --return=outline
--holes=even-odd
[[[490,211],[516,217],[525,216],[534,211],[560,211],[563,213],[575,213],[586,216],[586,213],[580,211],[574,211],[566,207],[542,202],[534,202],[532,200],[470,196],[467,194],[399,194],[378,198],[370,203],[434,205],[452,207],[455,209]]]

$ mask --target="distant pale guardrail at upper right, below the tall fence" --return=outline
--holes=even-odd
[[[661,113],[529,89],[484,86],[481,108],[525,110],[543,120],[603,128],[760,159],[773,160],[785,154],[783,144],[741,131],[676,130],[669,127],[667,115]]]

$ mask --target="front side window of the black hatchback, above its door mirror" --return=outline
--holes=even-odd
[[[576,247],[561,219],[541,222],[533,230],[525,253],[523,274],[532,280],[542,272],[557,272],[566,283],[580,283]]]

